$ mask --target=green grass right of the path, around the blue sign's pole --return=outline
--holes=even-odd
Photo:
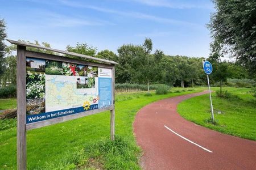
[[[218,90],[219,88],[212,88]],[[214,114],[217,125],[210,124],[209,95],[197,96],[178,105],[177,111],[185,119],[201,126],[234,135],[256,140],[256,100],[248,92],[250,88],[225,87],[233,97],[222,99],[212,94]]]

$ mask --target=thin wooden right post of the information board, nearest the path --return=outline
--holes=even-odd
[[[115,105],[115,67],[112,68],[112,104]],[[115,108],[110,110],[110,138],[115,139]]]

